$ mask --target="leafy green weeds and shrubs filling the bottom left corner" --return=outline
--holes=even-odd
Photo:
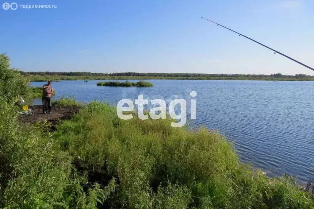
[[[0,208],[95,208],[105,201],[115,179],[107,187],[87,183],[53,135],[19,125],[16,108],[0,102]]]

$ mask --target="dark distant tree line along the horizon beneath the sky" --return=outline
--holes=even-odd
[[[275,73],[265,74],[207,74],[207,73],[91,73],[91,72],[23,72],[22,75],[53,75],[53,76],[147,76],[147,77],[231,77],[231,78],[309,78],[314,77],[306,74],[283,75]]]

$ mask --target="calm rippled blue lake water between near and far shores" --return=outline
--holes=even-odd
[[[270,176],[285,172],[303,182],[314,176],[314,82],[149,80],[154,84],[149,88],[96,86],[97,82],[54,82],[55,98],[71,95],[84,103],[97,99],[112,104],[125,98],[134,101],[141,94],[168,104],[183,98],[189,112],[189,93],[196,91],[197,119],[191,127],[218,129],[234,141],[244,162]]]

